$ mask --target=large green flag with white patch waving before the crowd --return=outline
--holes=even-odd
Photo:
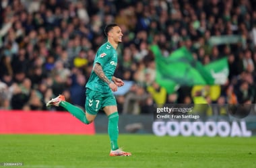
[[[156,60],[156,81],[168,93],[179,85],[222,85],[228,79],[226,57],[203,66],[185,46],[174,50],[169,56],[162,56],[157,45],[152,45],[151,50]]]

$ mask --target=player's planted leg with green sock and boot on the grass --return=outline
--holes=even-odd
[[[108,135],[110,138],[111,151],[110,156],[131,156],[131,153],[127,153],[119,149],[117,139],[119,136],[119,114],[117,112],[117,101],[113,93],[106,93],[103,99],[102,107],[106,116],[108,116]]]

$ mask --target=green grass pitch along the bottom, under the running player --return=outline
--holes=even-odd
[[[0,135],[0,163],[22,167],[256,167],[256,137],[119,136],[131,157],[109,157],[106,134]]]

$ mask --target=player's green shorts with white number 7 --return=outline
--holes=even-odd
[[[117,101],[112,91],[102,93],[86,89],[86,112],[96,115],[98,111],[106,106],[117,106]]]

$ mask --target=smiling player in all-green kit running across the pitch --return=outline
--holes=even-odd
[[[131,153],[122,151],[118,144],[119,114],[117,101],[112,91],[124,85],[124,82],[114,77],[117,67],[117,46],[122,42],[122,31],[117,24],[109,24],[104,29],[108,41],[96,52],[94,67],[86,84],[86,112],[77,106],[65,101],[64,95],[51,99],[46,106],[61,106],[84,124],[90,124],[96,118],[100,109],[108,116],[108,135],[110,137],[110,156],[131,156]]]

